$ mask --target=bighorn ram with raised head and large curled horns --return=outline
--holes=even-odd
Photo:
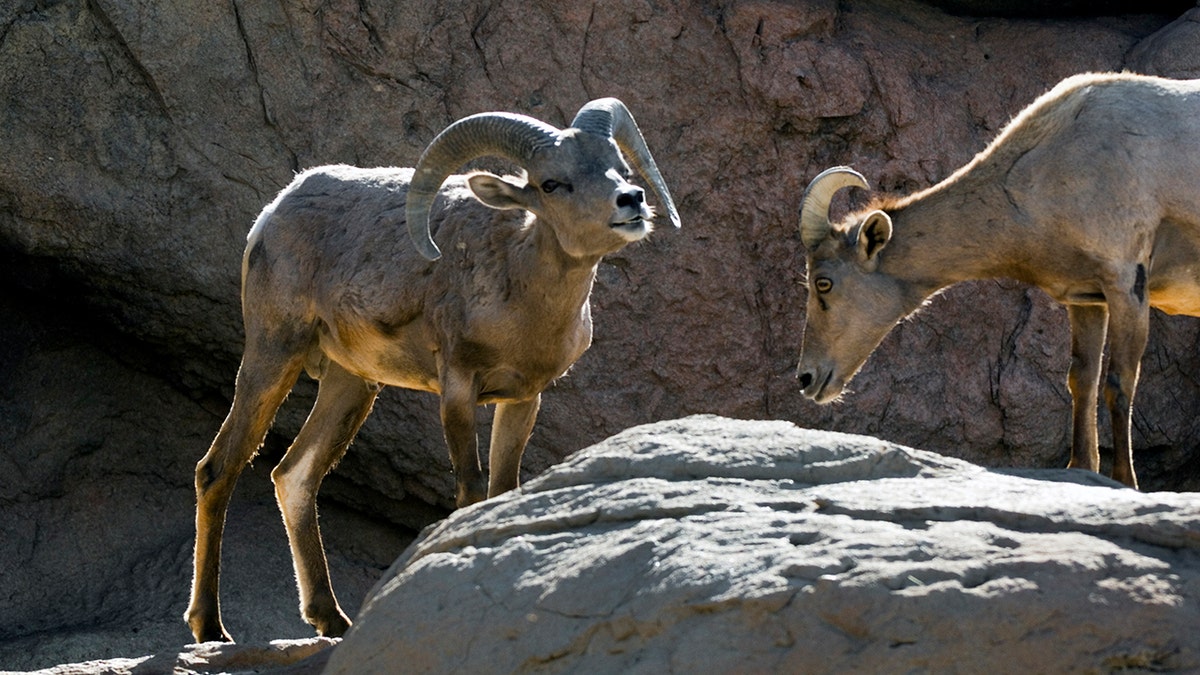
[[[242,259],[246,345],[233,406],[196,467],[185,619],[197,640],[230,640],[217,581],[226,510],[301,370],[319,380],[317,401],[271,479],[300,611],[319,634],[341,635],[350,621],[330,585],[317,490],[380,387],[440,395],[460,507],[517,486],[542,389],[592,344],[588,295],[600,258],[650,231],[654,210],[628,181],[623,154],[679,227],[646,141],[616,98],[586,104],[566,130],[472,115],[438,135],[415,169],[314,168],[263,210]],[[482,156],[524,173],[450,177]],[[402,220],[415,249],[396,235]],[[437,263],[431,223],[448,251]],[[490,480],[475,437],[484,404],[496,405]]]

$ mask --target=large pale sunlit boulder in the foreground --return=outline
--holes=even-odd
[[[1194,670],[1198,550],[1192,495],[691,417],[424,533],[325,673]]]

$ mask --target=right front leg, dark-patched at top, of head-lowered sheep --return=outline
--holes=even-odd
[[[1133,399],[1138,390],[1141,356],[1150,336],[1150,304],[1146,301],[1145,268],[1124,294],[1109,300],[1109,375],[1104,402],[1112,417],[1112,478],[1138,486],[1133,470]]]

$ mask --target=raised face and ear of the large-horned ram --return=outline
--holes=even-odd
[[[611,138],[568,130],[526,171],[526,180],[476,173],[470,189],[488,207],[533,211],[574,257],[611,253],[652,229],[654,210],[629,183],[629,165]]]

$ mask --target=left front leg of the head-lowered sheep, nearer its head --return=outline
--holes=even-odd
[[[1068,468],[1100,470],[1096,435],[1096,407],[1099,404],[1100,366],[1108,329],[1104,305],[1068,305],[1070,319],[1070,370],[1067,388],[1072,401],[1072,444]]]

